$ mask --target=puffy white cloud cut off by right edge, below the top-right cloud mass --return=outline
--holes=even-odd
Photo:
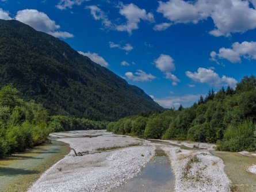
[[[219,53],[211,52],[211,60],[217,62],[218,59],[227,59],[231,63],[241,62],[244,59],[256,59],[256,42],[243,41],[242,43],[235,42],[231,48],[220,48]]]

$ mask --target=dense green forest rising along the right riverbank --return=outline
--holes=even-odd
[[[179,106],[163,113],[130,116],[110,122],[107,130],[147,139],[191,140],[217,143],[224,151],[256,149],[256,78],[237,83],[199,98],[188,108]]]

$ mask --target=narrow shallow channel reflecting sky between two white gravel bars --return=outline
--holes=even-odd
[[[162,149],[157,148],[154,158],[135,178],[129,179],[112,191],[170,192],[174,191],[174,185],[175,179],[171,171],[169,157]]]

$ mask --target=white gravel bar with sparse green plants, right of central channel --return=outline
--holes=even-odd
[[[220,158],[207,150],[185,150],[165,145],[175,175],[175,191],[230,191],[231,181]]]

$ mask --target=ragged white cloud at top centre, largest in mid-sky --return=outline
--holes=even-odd
[[[132,33],[132,30],[139,29],[138,24],[140,20],[154,22],[154,15],[152,13],[147,13],[145,9],[140,9],[133,3],[121,5],[119,13],[127,19],[127,23],[117,25],[116,30],[126,31],[129,34]]]

